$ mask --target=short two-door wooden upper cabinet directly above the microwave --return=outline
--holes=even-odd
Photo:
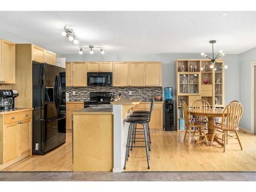
[[[112,62],[87,62],[87,72],[112,72]]]

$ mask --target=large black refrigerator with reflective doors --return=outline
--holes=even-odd
[[[65,68],[33,61],[33,154],[66,141]]]

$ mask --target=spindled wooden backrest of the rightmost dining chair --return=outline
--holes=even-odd
[[[243,114],[243,105],[239,102],[229,103],[223,111],[221,127],[222,129],[237,130],[238,123]],[[223,126],[225,124],[225,126]]]

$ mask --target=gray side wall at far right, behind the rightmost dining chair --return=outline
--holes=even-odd
[[[250,49],[240,54],[240,101],[244,106],[244,113],[240,126],[248,131],[251,130],[251,82],[250,82],[250,65],[256,61],[256,48]],[[255,125],[254,125],[255,126]]]

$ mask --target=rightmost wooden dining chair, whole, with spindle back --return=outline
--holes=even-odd
[[[243,114],[243,105],[240,102],[229,103],[223,111],[221,125],[219,124],[214,125],[214,133],[212,134],[210,145],[212,145],[216,131],[217,129],[219,129],[223,131],[223,135],[224,135],[224,137],[222,137],[223,144],[224,144],[224,152],[226,151],[226,143],[228,139],[237,139],[241,147],[241,150],[243,150],[243,147],[238,135],[238,130],[239,130],[238,123],[242,117],[242,114]],[[236,134],[236,137],[232,137],[232,136],[227,137],[228,132],[234,132]]]

